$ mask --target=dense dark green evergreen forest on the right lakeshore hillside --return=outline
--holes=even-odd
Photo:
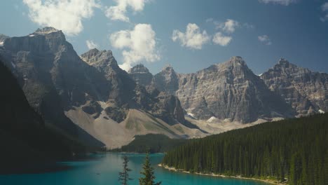
[[[328,114],[263,123],[169,151],[163,164],[189,172],[328,184]]]

